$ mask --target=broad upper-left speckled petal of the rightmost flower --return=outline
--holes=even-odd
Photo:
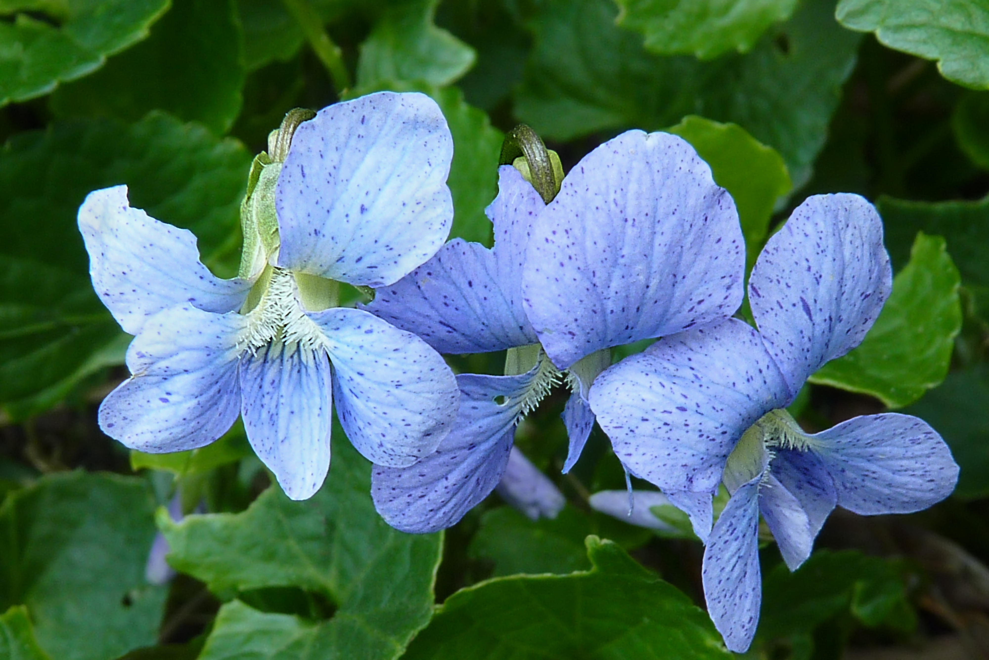
[[[590,388],[615,454],[666,493],[712,492],[746,429],[788,398],[759,333],[736,319],[666,337]]]

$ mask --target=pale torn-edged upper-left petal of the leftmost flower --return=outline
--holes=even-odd
[[[199,260],[188,229],[159,222],[127,199],[127,186],[93,191],[79,206],[93,289],[125,332],[181,302],[205,311],[234,311],[251,283],[221,280]]]

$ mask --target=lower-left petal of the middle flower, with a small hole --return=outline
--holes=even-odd
[[[504,472],[536,372],[458,375],[460,412],[436,451],[409,467],[375,466],[371,495],[382,518],[403,532],[435,532],[488,497]]]

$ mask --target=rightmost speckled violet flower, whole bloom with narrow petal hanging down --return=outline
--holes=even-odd
[[[861,342],[891,284],[875,209],[855,195],[811,197],[753,271],[759,332],[729,319],[666,337],[591,389],[601,427],[638,474],[708,510],[719,482],[731,493],[702,577],[708,612],[733,651],[749,648],[759,620],[760,514],[794,570],[836,506],[910,513],[954,488],[958,466],[923,420],[868,415],[809,435],[784,409],[811,373]]]

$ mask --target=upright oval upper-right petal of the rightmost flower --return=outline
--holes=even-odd
[[[882,220],[857,195],[815,195],[765,244],[749,301],[794,396],[861,343],[893,286]]]

